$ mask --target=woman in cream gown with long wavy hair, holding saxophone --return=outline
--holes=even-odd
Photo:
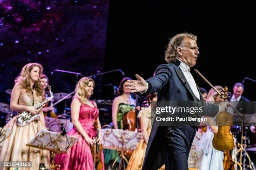
[[[32,167],[35,170],[39,169],[40,163],[48,166],[50,160],[48,151],[26,146],[36,136],[38,130],[46,128],[42,110],[38,112],[34,108],[35,105],[42,102],[44,96],[39,82],[42,72],[43,67],[39,63],[25,65],[15,80],[10,100],[11,110],[18,114],[23,111],[40,114],[40,120],[20,127],[16,125],[17,116],[13,117],[6,125],[12,127],[13,132],[6,139],[0,152],[1,161],[32,161]]]

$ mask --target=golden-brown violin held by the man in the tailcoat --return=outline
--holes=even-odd
[[[228,97],[228,87],[225,87],[224,102]],[[233,116],[229,112],[220,112],[216,117],[216,125],[218,125],[218,133],[214,134],[212,146],[216,150],[228,151],[234,148],[234,138],[230,133],[230,126],[233,124]]]

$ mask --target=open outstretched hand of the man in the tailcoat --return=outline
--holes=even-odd
[[[139,75],[135,75],[138,80],[127,80],[131,92],[144,92],[147,90],[146,81]]]

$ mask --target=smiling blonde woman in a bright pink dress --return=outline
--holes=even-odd
[[[77,83],[75,95],[71,103],[71,117],[74,128],[67,135],[76,136],[79,141],[67,154],[57,154],[56,164],[61,165],[61,170],[93,170],[93,158],[90,146],[94,145],[97,129],[94,121],[97,121],[98,136],[97,143],[101,144],[101,125],[99,110],[94,101],[89,100],[93,94],[95,82],[90,77],[82,77]],[[104,161],[103,152],[101,159]],[[104,170],[104,162],[102,170]]]

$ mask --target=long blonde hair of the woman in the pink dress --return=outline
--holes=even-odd
[[[80,101],[86,103],[87,99],[87,91],[85,87],[88,86],[89,82],[93,82],[93,86],[95,86],[95,82],[91,77],[82,77],[79,82],[77,83],[75,89],[74,98],[78,98]]]

